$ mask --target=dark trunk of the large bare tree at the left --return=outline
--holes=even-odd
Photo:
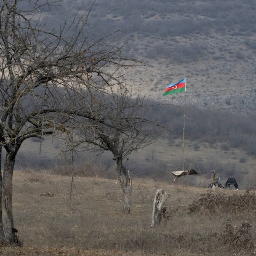
[[[4,241],[9,245],[18,245],[15,235],[14,217],[12,214],[12,177],[14,173],[16,153],[6,153],[4,174],[2,178],[2,224]]]

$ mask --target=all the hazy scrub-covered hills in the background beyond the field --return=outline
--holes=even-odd
[[[124,55],[145,63],[127,71],[126,83],[134,86],[134,93],[176,105],[152,110],[162,114],[163,122],[174,132],[130,158],[134,175],[172,180],[170,170],[182,167],[186,105],[186,168],[192,164],[206,179],[211,169],[217,169],[223,179],[234,175],[244,187],[251,188],[256,181],[252,179],[256,155],[256,2],[97,0],[92,4],[64,0],[41,9],[38,15],[49,28],[58,29],[65,20],[87,14],[92,7],[89,40],[122,30],[114,34],[113,41],[127,41]],[[167,84],[183,78],[185,93],[162,97]],[[31,142],[23,145],[17,167],[57,166],[60,143],[46,140],[41,147],[33,142],[33,146]],[[39,151],[41,155],[35,155]],[[30,161],[25,163],[28,152]],[[79,161],[90,158],[86,153]],[[112,173],[110,156],[100,159],[102,168]],[[192,183],[199,185],[199,180]],[[201,179],[200,184],[206,185]]]

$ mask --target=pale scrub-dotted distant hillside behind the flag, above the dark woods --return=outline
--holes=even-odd
[[[92,0],[65,0],[45,9],[58,26],[63,18],[86,14]],[[95,1],[89,15],[90,38],[124,30],[126,54],[145,66],[127,71],[134,92],[175,105],[248,113],[256,110],[256,2]],[[167,84],[186,78],[186,94],[162,97]]]

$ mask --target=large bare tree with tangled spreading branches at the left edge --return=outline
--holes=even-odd
[[[63,23],[54,33],[41,23],[39,10],[53,2],[26,1],[26,10],[20,9],[20,2],[2,0],[0,7],[0,150],[6,150],[0,177],[0,239],[6,244],[18,244],[12,177],[20,146],[31,137],[68,134],[65,125],[71,124],[78,89],[87,87],[91,94],[118,83],[115,71],[127,61],[120,47],[108,40],[111,35],[88,43],[89,16]]]

